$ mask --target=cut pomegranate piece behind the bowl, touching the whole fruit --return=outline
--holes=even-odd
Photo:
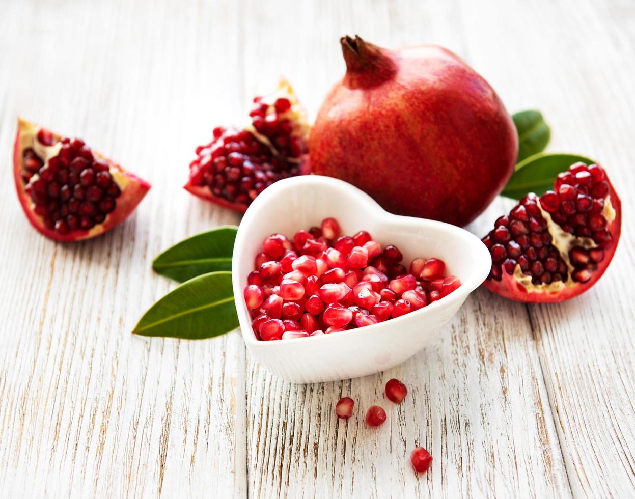
[[[215,128],[211,142],[196,148],[186,190],[243,213],[272,183],[310,172],[309,123],[287,81],[254,98],[250,119],[243,128]]]

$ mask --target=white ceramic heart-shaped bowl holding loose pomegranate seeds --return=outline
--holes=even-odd
[[[243,289],[265,237],[287,237],[335,217],[343,234],[368,230],[384,246],[395,244],[408,265],[418,256],[436,256],[461,286],[423,309],[396,319],[330,335],[260,341],[251,328]],[[251,356],[284,380],[316,383],[356,378],[392,368],[416,354],[451,319],[488,276],[490,253],[478,237],[448,223],[392,215],[363,191],[328,176],[280,180],[251,203],[238,227],[232,258],[236,310]]]

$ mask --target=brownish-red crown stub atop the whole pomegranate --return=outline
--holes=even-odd
[[[391,79],[397,73],[397,66],[389,51],[364,41],[358,35],[354,38],[340,38],[342,55],[346,63],[345,81],[351,88],[371,88]],[[358,77],[363,73],[363,77]]]

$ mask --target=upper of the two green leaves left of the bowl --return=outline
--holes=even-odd
[[[232,269],[237,227],[227,226],[188,237],[152,262],[152,269],[179,283],[208,272]]]

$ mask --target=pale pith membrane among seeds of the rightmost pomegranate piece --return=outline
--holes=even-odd
[[[611,196],[608,194],[604,200],[604,209],[602,211],[602,216],[606,218],[606,222],[611,223],[615,220],[615,210],[613,210],[613,206],[611,204]],[[553,237],[553,241],[551,244],[558,248],[560,252],[560,256],[566,263],[566,267],[568,269],[568,279],[565,281],[553,281],[549,284],[533,284],[531,282],[531,274],[526,275],[523,273],[523,270],[520,267],[519,263],[516,263],[516,267],[514,267],[514,274],[512,276],[514,279],[525,287],[528,293],[539,292],[539,293],[558,293],[563,288],[573,288],[577,286],[577,281],[574,281],[572,278],[573,271],[575,267],[571,263],[571,258],[569,257],[569,251],[575,246],[580,246],[585,250],[592,250],[593,248],[598,248],[598,244],[591,239],[591,237],[579,237],[571,234],[570,232],[566,232],[562,227],[558,225],[558,223],[554,222],[551,218],[551,214],[548,211],[545,211],[540,204],[540,198],[536,199],[536,204],[538,208],[540,208],[540,212],[542,213],[542,217],[547,222],[547,230]],[[505,272],[505,270],[503,270]],[[505,272],[506,274],[507,272]]]

